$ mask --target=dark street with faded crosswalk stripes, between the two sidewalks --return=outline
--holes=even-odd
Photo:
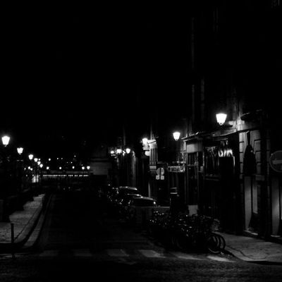
[[[167,250],[92,195],[54,195],[34,252],[0,259],[0,281],[282,281],[282,267]]]

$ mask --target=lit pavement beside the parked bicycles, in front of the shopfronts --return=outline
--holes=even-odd
[[[248,236],[216,232],[226,240],[227,252],[245,262],[282,265],[282,244]]]

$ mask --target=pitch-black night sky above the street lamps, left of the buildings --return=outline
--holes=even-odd
[[[123,121],[146,130],[150,109],[185,91],[185,20],[168,8],[4,12],[0,130],[17,142],[97,141],[118,135]]]

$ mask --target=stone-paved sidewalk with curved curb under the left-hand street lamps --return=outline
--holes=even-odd
[[[42,214],[43,200],[44,194],[33,197],[33,201],[25,203],[23,210],[9,216],[10,222],[0,222],[0,253],[12,250],[12,224],[14,250],[18,250],[27,243]]]

